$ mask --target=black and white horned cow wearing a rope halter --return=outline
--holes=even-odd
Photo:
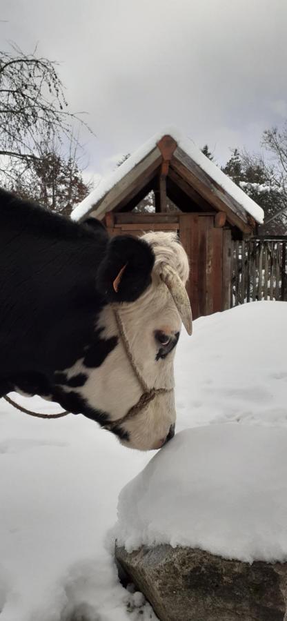
[[[0,190],[0,397],[41,395],[159,448],[174,434],[181,318],[191,333],[187,278],[174,233],[110,239]]]

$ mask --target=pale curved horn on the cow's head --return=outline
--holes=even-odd
[[[161,279],[172,295],[186,332],[192,334],[192,313],[184,283],[179,278],[177,272],[168,264],[164,264],[161,268]]]

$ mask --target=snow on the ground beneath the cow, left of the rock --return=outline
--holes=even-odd
[[[155,619],[120,586],[105,544],[121,486],[150,455],[123,449],[84,417],[40,421],[3,401],[0,438],[1,621],[68,621],[81,611],[85,621]]]

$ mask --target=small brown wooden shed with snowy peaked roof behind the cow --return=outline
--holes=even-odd
[[[137,213],[153,190],[151,213]],[[168,132],[130,156],[72,214],[97,217],[110,235],[175,230],[190,259],[194,318],[230,308],[232,239],[249,237],[261,208],[190,140]]]

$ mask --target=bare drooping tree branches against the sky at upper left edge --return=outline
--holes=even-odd
[[[17,47],[0,52],[0,172],[7,171],[7,158],[23,170],[41,157],[39,142],[73,139],[75,121],[57,74],[57,63],[25,55]],[[10,175],[12,172],[10,171]]]

